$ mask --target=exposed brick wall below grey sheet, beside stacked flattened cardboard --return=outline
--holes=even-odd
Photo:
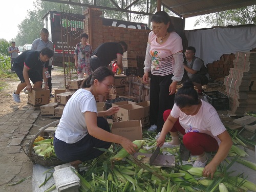
[[[210,78],[217,79],[227,76],[229,74],[229,69],[233,68],[234,58],[235,55],[233,53],[223,54],[220,57],[220,60],[208,63],[207,68]]]

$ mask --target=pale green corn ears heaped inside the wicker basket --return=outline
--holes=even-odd
[[[53,147],[53,138],[44,139],[43,137],[38,136],[33,143],[33,150],[36,155],[44,157],[44,159],[56,158]]]

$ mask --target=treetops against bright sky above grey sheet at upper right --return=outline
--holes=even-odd
[[[197,18],[194,27],[205,23],[208,26],[228,26],[255,24],[256,6],[242,7],[227,11],[201,15]]]

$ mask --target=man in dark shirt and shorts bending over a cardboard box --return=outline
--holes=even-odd
[[[27,50],[14,60],[13,68],[20,80],[17,90],[12,94],[15,102],[20,102],[19,93],[24,88],[26,88],[27,91],[32,90],[30,80],[34,84],[33,88],[40,88],[42,79],[44,79],[44,89],[48,89],[48,78],[50,74],[47,68],[52,56],[53,51],[46,47],[41,51]]]

